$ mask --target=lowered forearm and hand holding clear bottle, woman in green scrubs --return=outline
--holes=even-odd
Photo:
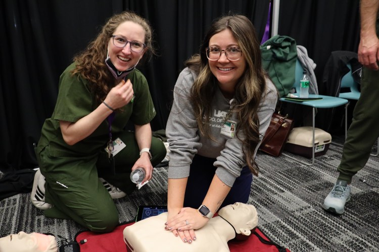
[[[152,131],[150,122],[144,125],[134,125],[135,129],[135,139],[137,141],[139,150],[144,148],[150,149],[152,140]],[[131,170],[135,170],[137,167],[144,167],[146,171],[146,176],[143,182],[150,180],[153,176],[153,165],[150,161],[149,153],[143,152],[139,159],[134,163]]]

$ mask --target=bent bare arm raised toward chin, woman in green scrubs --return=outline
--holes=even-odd
[[[131,82],[122,80],[108,93],[104,102],[113,109],[120,108],[128,104],[133,97]],[[95,110],[80,118],[76,122],[60,120],[62,136],[68,145],[77,142],[91,135],[99,125],[112,113],[112,109],[101,103]]]

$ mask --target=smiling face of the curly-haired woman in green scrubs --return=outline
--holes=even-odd
[[[121,23],[114,31],[113,35],[121,36],[128,41],[145,43],[145,30],[142,26],[126,21]],[[126,71],[133,68],[138,60],[144,55],[146,48],[141,52],[135,52],[130,49],[130,43],[125,47],[117,47],[113,44],[113,38],[109,40],[109,57],[118,71]]]

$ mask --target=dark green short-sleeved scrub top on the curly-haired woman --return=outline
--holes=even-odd
[[[74,68],[75,62],[60,77],[57,103],[52,117],[44,121],[37,153],[50,145],[50,155],[56,157],[93,155],[101,151],[109,141],[107,119],[91,135],[72,146],[63,140],[59,120],[76,122],[99,106],[90,91],[91,83],[80,75],[72,75]],[[128,103],[115,112],[111,124],[112,134],[123,131],[129,120],[133,124],[144,125],[156,115],[145,76],[135,69],[126,78],[133,85],[135,98],[133,103]]]

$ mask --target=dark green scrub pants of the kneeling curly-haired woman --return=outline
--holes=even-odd
[[[45,176],[45,200],[53,205],[45,210],[50,218],[73,219],[94,232],[110,232],[119,223],[116,206],[99,177],[130,194],[135,184],[130,181],[131,167],[139,158],[139,148],[133,132],[115,134],[126,147],[114,156],[116,175],[112,174],[108,154],[92,156],[51,156],[47,146],[39,155],[40,170]],[[152,138],[152,165],[166,156],[160,139]],[[154,173],[153,173],[154,175]]]

